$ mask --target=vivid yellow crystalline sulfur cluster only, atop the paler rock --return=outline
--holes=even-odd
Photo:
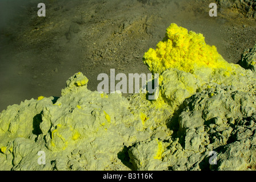
[[[188,32],[175,23],[167,28],[166,36],[157,44],[157,48],[150,48],[143,59],[153,73],[162,73],[167,68],[177,68],[189,73],[201,68],[211,68],[212,71],[223,68],[231,71],[229,63],[219,55],[215,46],[205,43],[202,34]]]

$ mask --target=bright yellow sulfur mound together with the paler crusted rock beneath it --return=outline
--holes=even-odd
[[[172,109],[209,82],[233,85],[241,90],[255,92],[255,76],[239,65],[227,63],[215,46],[205,43],[202,34],[172,23],[166,36],[143,56],[144,63],[153,73],[159,73],[159,101]],[[161,104],[160,104],[161,105]]]

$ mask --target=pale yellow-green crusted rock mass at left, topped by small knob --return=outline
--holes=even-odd
[[[158,119],[142,111],[121,94],[87,90],[87,78],[77,73],[69,78],[56,102],[53,97],[41,97],[9,106],[1,113],[1,147],[5,148],[1,168],[127,169],[118,159],[118,152],[149,138],[160,125],[155,121],[165,120],[168,115],[153,106],[150,113]],[[38,151],[46,154],[45,166],[37,163]]]

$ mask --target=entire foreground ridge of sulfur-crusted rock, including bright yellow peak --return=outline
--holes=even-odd
[[[0,170],[256,170],[255,56],[256,45],[243,67],[227,63],[202,34],[173,23],[143,56],[159,73],[157,100],[92,92],[76,73],[57,101],[0,113]]]

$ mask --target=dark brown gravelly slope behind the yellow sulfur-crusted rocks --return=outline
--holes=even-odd
[[[209,1],[40,1],[45,18],[37,16],[38,1],[14,2],[1,2],[0,110],[42,94],[60,96],[79,71],[91,90],[110,68],[149,73],[142,56],[170,23],[201,32],[230,63],[256,43],[254,16],[224,1],[217,2],[216,18],[209,16]]]

